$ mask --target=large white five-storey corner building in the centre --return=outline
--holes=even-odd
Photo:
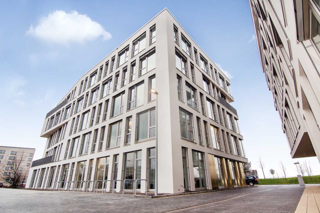
[[[158,193],[244,186],[233,101],[230,80],[164,9],[45,116],[43,158],[27,187],[110,191],[117,180],[119,192],[134,187],[121,180],[142,179],[138,193],[152,193],[156,128]]]

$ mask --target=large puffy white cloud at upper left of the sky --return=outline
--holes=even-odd
[[[77,11],[66,13],[62,10],[50,12],[47,17],[42,17],[36,27],[31,24],[26,34],[46,42],[64,45],[92,41],[101,35],[103,40],[112,38],[110,33],[86,14],[82,15]]]

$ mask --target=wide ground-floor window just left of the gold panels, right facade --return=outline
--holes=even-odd
[[[192,150],[192,162],[196,189],[206,188],[204,154]]]

